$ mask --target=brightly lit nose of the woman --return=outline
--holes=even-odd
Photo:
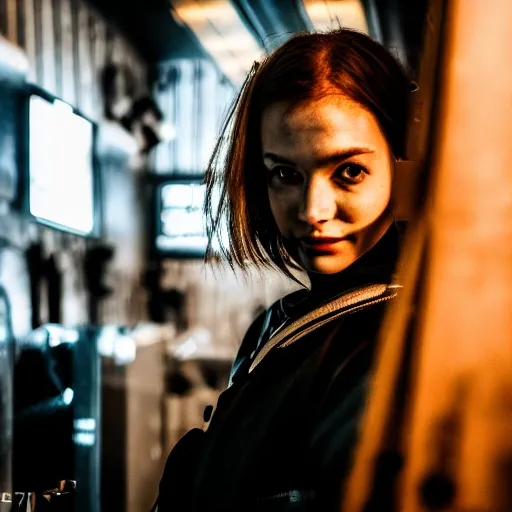
[[[321,224],[336,216],[336,193],[329,179],[318,177],[304,186],[299,219],[311,225]]]

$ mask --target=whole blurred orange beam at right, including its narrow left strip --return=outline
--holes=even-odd
[[[364,509],[389,449],[405,455],[394,510],[432,509],[436,482],[453,491],[443,511],[512,510],[512,3],[447,6],[428,209],[413,224],[404,291],[384,323],[345,512]],[[400,410],[404,365],[412,378]]]

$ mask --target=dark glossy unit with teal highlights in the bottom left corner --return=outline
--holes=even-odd
[[[96,338],[93,328],[45,324],[26,337],[16,360],[14,488],[36,493],[36,501],[51,494],[51,510],[61,503],[67,512],[99,510]],[[76,482],[79,500],[64,496],[63,480]]]

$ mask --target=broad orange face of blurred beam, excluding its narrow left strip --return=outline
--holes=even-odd
[[[435,474],[457,489],[447,510],[512,507],[511,21],[508,0],[449,3],[404,511]]]

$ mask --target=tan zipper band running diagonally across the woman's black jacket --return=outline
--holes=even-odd
[[[352,292],[349,292],[345,295],[342,295],[341,297],[338,297],[337,299],[334,299],[333,301],[324,304],[323,306],[320,306],[319,308],[313,310],[312,312],[308,313],[307,315],[304,315],[302,318],[296,320],[291,325],[289,325],[285,329],[279,329],[278,332],[274,334],[272,338],[270,338],[266,345],[261,349],[259,354],[254,359],[253,363],[251,364],[249,368],[249,373],[251,373],[258,364],[261,363],[261,361],[265,358],[265,356],[274,348],[284,348],[290,346],[292,343],[297,341],[298,339],[302,338],[303,336],[306,336],[307,334],[313,332],[315,329],[318,329],[319,327],[322,327],[328,322],[331,322],[332,320],[336,320],[337,318],[340,318],[342,316],[348,315],[350,313],[355,313],[356,311],[359,311],[361,309],[367,308],[369,306],[373,306],[374,304],[378,304],[380,302],[384,302],[387,300],[390,300],[398,294],[398,289],[400,289],[400,285],[383,285],[383,284],[374,284],[370,286],[366,286],[364,288],[359,288],[358,290],[354,290]],[[394,293],[391,293],[385,297],[382,297],[386,291],[395,290]],[[372,300],[373,299],[373,300]],[[366,300],[366,302],[364,302]],[[363,302],[363,303],[361,303]],[[349,306],[349,309],[346,309]],[[320,319],[318,322],[314,323],[313,325],[310,325],[309,327],[306,327],[303,330],[299,329],[310,323],[314,320],[321,318],[322,316],[325,316],[329,313],[332,313],[336,310],[340,310],[338,313],[329,316],[325,319]],[[297,332],[299,331],[299,332]],[[288,340],[286,340],[284,343],[280,342],[286,338],[287,336],[290,336]]]

